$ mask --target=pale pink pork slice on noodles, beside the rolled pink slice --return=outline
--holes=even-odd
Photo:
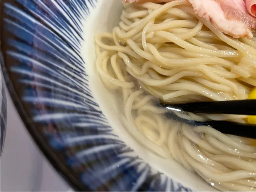
[[[234,0],[188,0],[195,14],[211,22],[218,30],[234,38],[252,38],[251,27],[256,27],[246,15],[246,9],[238,9],[235,6],[228,6],[228,1]],[[224,2],[226,1],[227,4]],[[236,0],[240,1],[240,0]],[[245,8],[245,4],[244,4]],[[238,14],[239,13],[239,14]],[[250,18],[251,19],[251,18]]]

